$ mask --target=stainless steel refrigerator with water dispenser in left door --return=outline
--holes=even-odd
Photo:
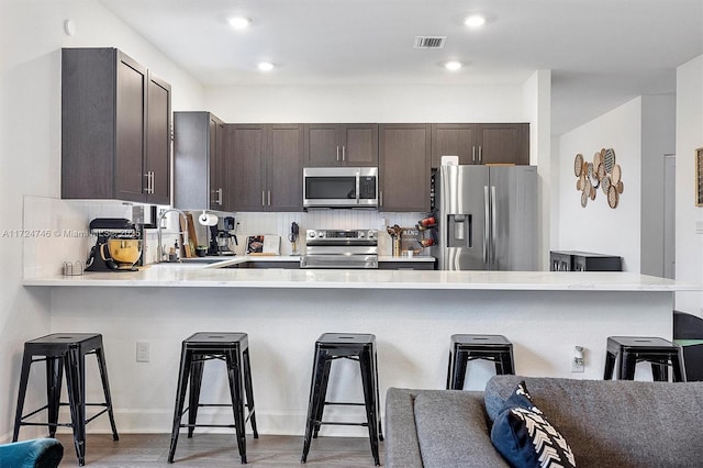
[[[537,269],[535,166],[442,166],[435,211],[439,269]]]

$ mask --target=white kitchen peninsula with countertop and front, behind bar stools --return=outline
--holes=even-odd
[[[249,335],[259,431],[295,435],[304,428],[312,352],[322,333],[376,334],[381,400],[388,387],[444,388],[454,333],[505,335],[521,375],[601,379],[607,336],[671,338],[674,291],[700,289],[627,272],[193,265],[25,279],[24,285],[49,289],[52,332],[103,334],[121,431],[167,432],[180,342],[198,331],[233,331]],[[135,342],[150,345],[149,363],[135,363]],[[577,345],[585,348],[583,374],[570,371]],[[333,369],[338,374],[331,391],[338,401],[361,398],[352,364]],[[491,367],[472,363],[467,388],[482,388]],[[638,368],[643,371],[638,378],[648,377]],[[209,397],[226,401],[226,381],[212,376]],[[97,382],[91,392],[99,392]],[[225,424],[231,417],[223,411],[203,414]],[[342,420],[360,413],[343,406],[330,414]],[[364,431],[332,426],[321,434],[364,436]]]

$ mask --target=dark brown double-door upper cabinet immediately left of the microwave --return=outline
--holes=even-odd
[[[302,124],[228,124],[232,211],[302,211]]]

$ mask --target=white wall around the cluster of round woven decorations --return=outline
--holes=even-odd
[[[616,209],[602,190],[581,208],[573,159],[581,153],[592,161],[595,152],[613,148],[623,171],[624,193]],[[623,270],[639,272],[641,98],[565,134],[559,140],[559,237],[553,249],[584,250],[623,257]]]

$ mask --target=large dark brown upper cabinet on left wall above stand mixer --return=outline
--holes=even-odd
[[[62,198],[169,204],[170,93],[116,48],[64,48]]]

